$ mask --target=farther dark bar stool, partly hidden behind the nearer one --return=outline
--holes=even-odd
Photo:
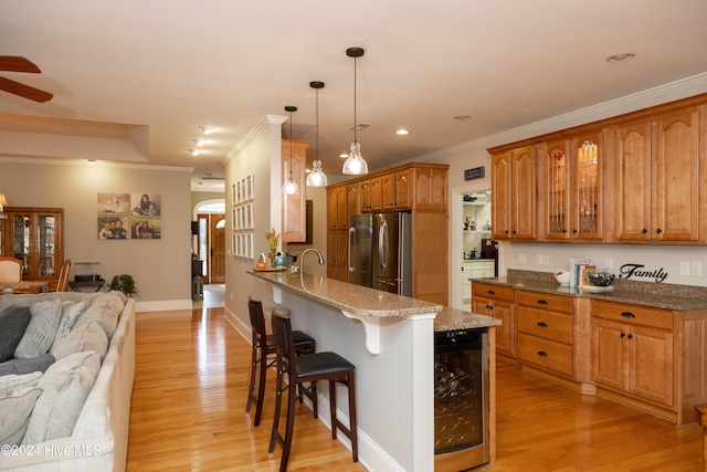
[[[253,426],[257,427],[261,423],[261,415],[263,413],[263,400],[265,398],[265,374],[267,368],[272,367],[276,359],[273,358],[270,363],[267,356],[275,354],[275,342],[273,335],[268,335],[265,332],[265,315],[263,314],[263,303],[253,300],[249,296],[247,311],[251,315],[251,334],[253,348],[251,350],[251,380],[247,392],[247,402],[245,403],[245,412],[251,411],[251,405],[255,403],[255,419]],[[277,307],[277,311],[288,314],[289,311],[285,307]],[[316,343],[313,337],[300,331],[293,333],[295,339],[295,353],[297,354],[310,354],[316,350]],[[257,394],[255,394],[255,370],[258,370],[258,384]]]

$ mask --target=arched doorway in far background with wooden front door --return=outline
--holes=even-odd
[[[203,261],[204,283],[225,283],[225,200],[205,200],[194,208],[193,251]]]

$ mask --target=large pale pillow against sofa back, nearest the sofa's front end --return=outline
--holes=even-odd
[[[71,437],[81,410],[101,370],[101,356],[92,350],[54,363],[40,379],[36,400],[22,444],[39,444]]]

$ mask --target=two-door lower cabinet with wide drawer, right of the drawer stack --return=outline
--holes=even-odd
[[[673,312],[612,302],[592,305],[592,378],[598,387],[672,408]]]

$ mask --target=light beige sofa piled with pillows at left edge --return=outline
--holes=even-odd
[[[3,336],[11,329],[2,326],[22,325],[19,340]],[[0,353],[8,357],[13,345],[0,363],[0,470],[125,470],[135,300],[120,292],[2,295]]]

